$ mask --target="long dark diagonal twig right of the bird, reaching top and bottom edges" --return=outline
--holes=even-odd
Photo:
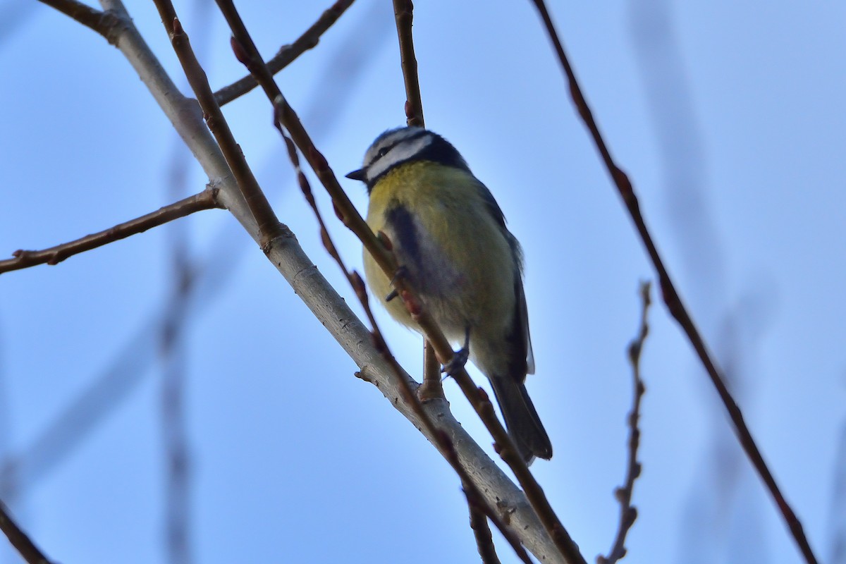
[[[658,274],[658,281],[661,284],[661,293],[664,304],[667,305],[670,315],[673,315],[673,318],[678,322],[678,325],[681,326],[684,334],[688,337],[690,344],[693,345],[696,354],[699,356],[701,363],[705,366],[705,370],[711,378],[711,383],[715,388],[717,388],[717,394],[719,394],[723,405],[728,411],[728,416],[732,420],[734,432],[738,437],[740,446],[743,446],[746,456],[749,457],[752,466],[755,467],[755,470],[761,476],[767,490],[769,490],[770,495],[776,502],[776,506],[779,512],[781,512],[785,523],[787,523],[791,534],[793,534],[796,545],[799,546],[799,550],[805,557],[805,561],[808,564],[816,564],[816,556],[814,556],[814,552],[810,548],[808,539],[805,537],[805,532],[802,528],[802,523],[799,521],[799,517],[796,516],[796,513],[789,506],[787,500],[784,499],[782,491],[779,490],[776,480],[772,476],[772,472],[770,472],[766,462],[764,462],[764,457],[761,455],[761,451],[755,444],[755,440],[752,438],[750,430],[744,422],[743,412],[740,411],[737,402],[734,401],[731,393],[728,392],[728,387],[725,384],[722,371],[717,368],[717,362],[711,358],[711,353],[708,351],[705,339],[700,335],[693,318],[682,303],[682,299],[673,284],[673,280],[667,273],[667,268],[664,266],[661,255],[658,253],[651,234],[646,227],[645,220],[640,213],[640,204],[638,203],[637,196],[634,194],[634,188],[629,180],[629,177],[613,161],[611,152],[608,150],[605,140],[602,139],[602,134],[600,134],[599,127],[596,125],[596,120],[593,118],[591,108],[588,107],[587,101],[585,101],[585,96],[582,94],[579,83],[575,78],[573,68],[570,66],[567,55],[564,53],[563,46],[558,38],[558,32],[552,24],[552,19],[547,11],[546,4],[543,0],[532,0],[532,2],[535,3],[536,8],[540,12],[541,19],[543,19],[550,40],[554,44],[556,52],[558,52],[558,60],[563,67],[564,73],[567,75],[570,96],[573,98],[575,107],[578,109],[582,120],[585,122],[585,126],[591,132],[591,137],[596,144],[596,148],[602,156],[602,162],[605,163],[608,173],[613,179],[620,196],[623,198],[624,204],[629,211],[629,215],[634,222],[634,226],[637,228],[640,239],[652,261],[652,265],[655,266],[655,270]]]

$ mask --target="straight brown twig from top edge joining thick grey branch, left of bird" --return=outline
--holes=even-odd
[[[277,220],[276,214],[273,213],[264,192],[261,191],[258,181],[255,180],[255,176],[250,170],[250,165],[247,164],[244,158],[244,153],[241,152],[241,148],[235,141],[232,130],[229,129],[226,118],[223,117],[223,112],[221,112],[220,106],[217,104],[214,93],[209,86],[206,71],[203,70],[200,62],[197,61],[188,35],[185,34],[182,24],[179,23],[179,19],[176,17],[176,10],[173,8],[173,3],[170,0],[154,1],[159,14],[162,16],[162,23],[165,29],[168,30],[173,51],[179,57],[179,63],[182,64],[185,77],[188,79],[191,89],[194,90],[197,101],[200,102],[206,125],[208,125],[211,134],[217,140],[217,145],[220,145],[223,157],[226,159],[229,168],[232,169],[235,182],[238,183],[238,188],[255,218],[260,233],[259,244],[263,247],[276,236],[279,220]]]

